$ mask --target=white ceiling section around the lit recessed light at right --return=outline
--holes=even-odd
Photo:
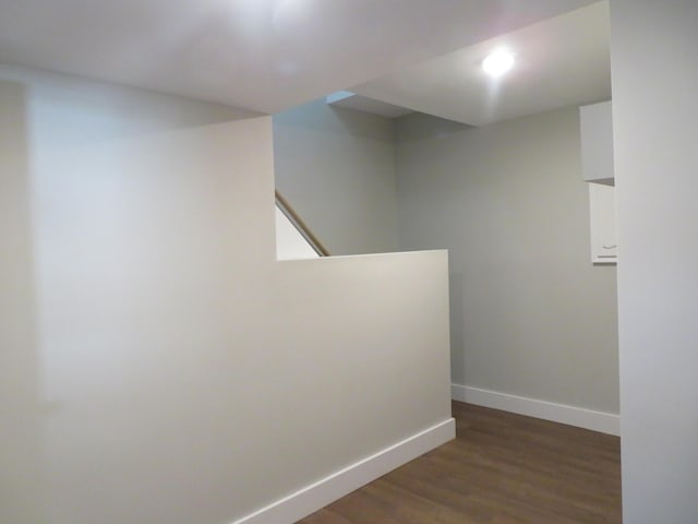
[[[516,64],[493,80],[481,64],[498,48],[514,51]],[[351,92],[470,126],[609,99],[607,2],[402,69]]]

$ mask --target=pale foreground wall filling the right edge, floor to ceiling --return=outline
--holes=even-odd
[[[693,0],[611,1],[624,522],[698,522]]]

